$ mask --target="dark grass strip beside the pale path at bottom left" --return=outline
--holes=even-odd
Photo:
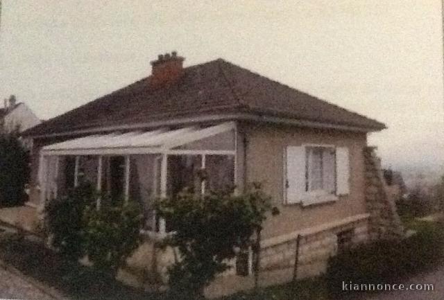
[[[94,274],[88,267],[64,261],[51,249],[11,233],[2,233],[0,257],[22,273],[56,288],[70,299],[161,299]]]

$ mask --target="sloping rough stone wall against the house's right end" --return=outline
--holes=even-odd
[[[372,240],[402,238],[404,227],[396,211],[395,197],[382,174],[375,148],[364,149],[366,166],[366,205],[370,213],[368,233]]]

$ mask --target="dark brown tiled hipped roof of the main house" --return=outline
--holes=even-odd
[[[153,89],[148,78],[143,78],[24,134],[35,136],[240,111],[369,131],[385,128],[383,123],[219,59],[185,68],[180,80],[168,87]]]

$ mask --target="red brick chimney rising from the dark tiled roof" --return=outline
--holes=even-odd
[[[151,62],[150,85],[158,87],[176,82],[182,76],[184,60],[176,51],[159,55],[157,60]]]

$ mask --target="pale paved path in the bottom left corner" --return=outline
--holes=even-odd
[[[0,264],[0,298],[58,300],[37,287],[26,276],[5,269]]]

